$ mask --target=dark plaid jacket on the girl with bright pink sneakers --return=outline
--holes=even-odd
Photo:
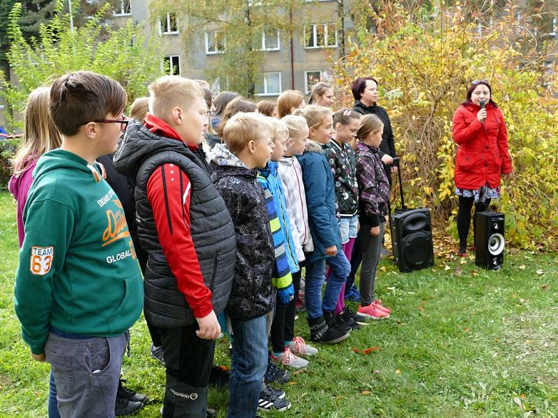
[[[359,142],[356,145],[356,179],[359,182],[359,222],[378,226],[384,222],[390,189],[379,150]]]

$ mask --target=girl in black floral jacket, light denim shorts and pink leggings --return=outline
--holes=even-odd
[[[329,143],[331,146],[324,151],[335,180],[335,201],[340,213],[339,226],[342,251],[349,261],[351,261],[354,240],[359,226],[359,217],[356,215],[359,185],[356,183],[354,151],[350,143],[356,138],[360,118],[361,115],[351,109],[336,111],[333,115],[335,134],[333,134],[333,139]],[[345,283],[341,286],[335,314],[340,314],[342,320],[349,327],[358,327],[356,319],[359,317],[348,307],[345,307]],[[361,323],[363,323],[362,320]]]

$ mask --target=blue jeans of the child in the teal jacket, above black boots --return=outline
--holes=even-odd
[[[322,285],[326,279],[325,261],[306,261],[304,299],[306,300],[306,313],[310,319],[323,316],[324,311],[335,311],[341,286],[351,272],[351,264],[343,251],[338,251],[335,257],[327,257],[326,261],[331,268],[331,274],[327,279],[323,299]]]

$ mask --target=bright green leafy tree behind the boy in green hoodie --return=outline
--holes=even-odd
[[[112,77],[128,93],[128,100],[146,95],[147,86],[163,75],[163,55],[156,37],[146,37],[141,26],[128,21],[117,29],[103,26],[107,3],[82,27],[70,29],[70,15],[62,0],[48,24],[40,24],[38,38],[24,37],[19,23],[22,4],[15,3],[8,20],[8,61],[15,80],[1,78],[3,95],[14,111],[22,112],[27,95],[68,71],[91,70]]]

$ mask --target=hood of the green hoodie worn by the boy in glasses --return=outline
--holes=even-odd
[[[89,176],[91,180],[99,181],[101,177],[105,177],[105,169],[98,162],[94,164],[96,167],[93,167],[79,155],[58,148],[39,158],[37,167],[33,172],[33,180],[37,181],[41,176],[52,170],[67,169],[75,170],[78,176]]]

